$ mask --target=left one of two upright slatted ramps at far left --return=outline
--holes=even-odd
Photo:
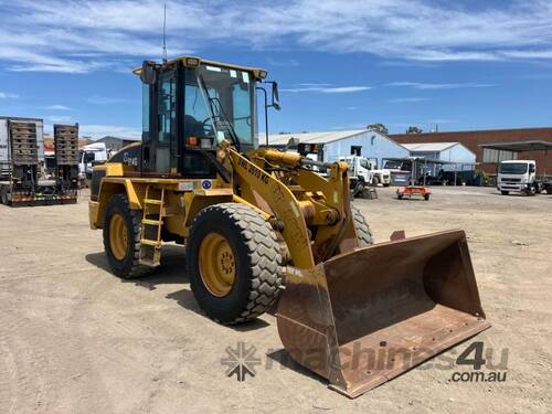
[[[10,121],[11,159],[14,166],[36,166],[36,124]]]

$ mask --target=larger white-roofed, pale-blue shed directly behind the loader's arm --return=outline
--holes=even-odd
[[[290,139],[302,144],[321,144],[320,161],[335,161],[339,157],[348,156],[355,149],[362,157],[378,161],[382,167],[384,158],[408,157],[408,150],[401,144],[390,139],[386,135],[370,129],[352,129],[322,132],[273,134],[268,136],[270,146],[284,148]],[[296,149],[291,147],[290,149]]]

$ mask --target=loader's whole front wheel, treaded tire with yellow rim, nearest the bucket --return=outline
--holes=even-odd
[[[221,203],[200,211],[187,242],[190,286],[212,319],[235,325],[274,304],[284,276],[276,233],[253,208]]]

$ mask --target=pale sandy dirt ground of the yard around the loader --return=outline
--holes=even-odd
[[[152,276],[125,282],[106,269],[102,232],[75,205],[0,205],[0,412],[552,412],[552,195],[435,189],[399,201],[393,189],[355,204],[376,241],[464,229],[492,327],[439,358],[482,341],[503,382],[455,382],[432,360],[349,400],[289,363],[276,319],[227,328],[194,301],[179,246]],[[226,376],[225,349],[256,348],[254,378]],[[488,367],[482,372],[490,372]]]

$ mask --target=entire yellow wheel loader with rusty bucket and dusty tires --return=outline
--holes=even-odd
[[[347,163],[258,146],[264,70],[183,56],[135,73],[142,140],[91,183],[91,227],[116,275],[185,245],[209,317],[245,322],[277,301],[287,352],[351,397],[489,327],[463,231],[373,244]]]

